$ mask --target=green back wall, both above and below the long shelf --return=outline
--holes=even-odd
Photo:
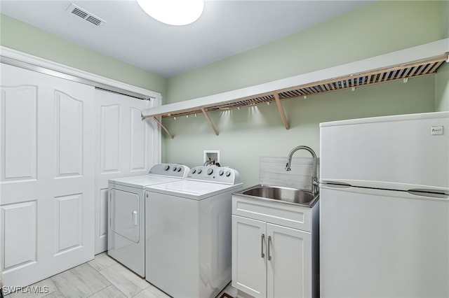
[[[168,79],[167,102],[266,83],[447,38],[445,1],[377,1],[278,41]],[[445,66],[443,66],[445,67]],[[203,163],[203,150],[220,150],[223,166],[258,183],[260,156],[286,156],[298,145],[319,155],[319,123],[381,115],[448,111],[447,67],[436,76],[413,78],[283,101],[290,129],[276,105],[164,119],[163,160]],[[296,155],[295,155],[296,156]],[[307,153],[297,156],[307,156]],[[293,165],[294,166],[294,165]]]

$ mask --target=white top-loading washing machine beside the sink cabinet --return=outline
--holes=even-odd
[[[215,297],[231,281],[232,193],[239,173],[196,166],[146,188],[147,281],[172,297]]]

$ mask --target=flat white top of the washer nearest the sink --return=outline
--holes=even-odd
[[[145,190],[149,192],[159,192],[161,194],[171,194],[175,197],[185,197],[187,199],[205,199],[222,192],[234,191],[242,187],[242,183],[227,185],[221,183],[208,183],[194,180],[177,180],[172,183],[160,185],[149,185]]]

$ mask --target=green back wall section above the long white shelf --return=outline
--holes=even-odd
[[[377,1],[168,80],[173,103],[326,69],[448,37],[446,1]],[[443,12],[445,11],[445,15]]]

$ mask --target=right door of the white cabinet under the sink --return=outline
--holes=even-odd
[[[267,224],[267,297],[311,297],[311,234]]]

